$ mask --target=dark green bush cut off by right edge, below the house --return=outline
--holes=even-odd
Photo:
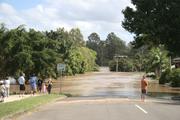
[[[174,69],[171,74],[171,86],[180,87],[180,68]]]

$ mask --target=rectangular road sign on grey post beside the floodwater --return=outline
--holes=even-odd
[[[61,92],[62,92],[62,90],[61,90],[61,88],[62,88],[61,81],[63,79],[63,71],[65,71],[65,70],[66,70],[66,65],[65,64],[63,64],[63,63],[58,63],[57,64],[57,71],[58,71],[58,73],[60,73],[59,94],[61,94]]]

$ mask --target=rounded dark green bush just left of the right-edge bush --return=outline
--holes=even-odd
[[[159,84],[169,83],[170,81],[171,81],[171,71],[170,69],[167,69],[161,74],[161,77],[159,78]]]

